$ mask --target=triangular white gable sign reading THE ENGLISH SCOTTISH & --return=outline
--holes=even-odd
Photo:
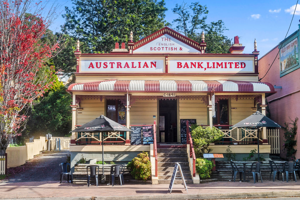
[[[172,53],[183,53],[183,52],[197,52],[200,51],[194,49],[193,47],[187,45],[186,43],[177,40],[176,38],[164,34],[161,37],[152,40],[149,43],[137,48],[134,50],[134,53],[137,52],[172,52]]]

